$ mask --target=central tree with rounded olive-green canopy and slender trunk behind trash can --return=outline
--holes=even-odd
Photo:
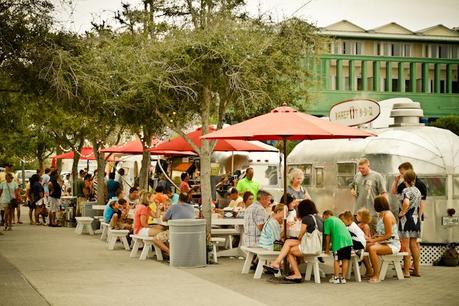
[[[188,6],[194,27],[171,29],[160,41],[136,49],[141,60],[133,64],[128,88],[151,101],[165,126],[187,139],[183,126],[190,118],[198,118],[206,134],[211,123],[221,128],[230,112],[247,118],[281,102],[307,100],[309,72],[300,60],[313,60],[320,46],[314,27],[297,19],[280,24],[236,19],[220,10],[223,2],[200,3]],[[203,141],[197,148],[187,140],[201,158],[203,212],[210,220],[214,143]]]

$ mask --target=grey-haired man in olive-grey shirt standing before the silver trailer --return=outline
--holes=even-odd
[[[378,218],[373,202],[378,195],[387,198],[386,184],[380,173],[370,169],[368,159],[359,160],[358,170],[359,172],[354,176],[351,190],[352,195],[356,198],[354,214],[360,208],[367,208],[373,216],[370,228],[374,232]]]

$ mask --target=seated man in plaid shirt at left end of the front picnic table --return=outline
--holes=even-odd
[[[250,205],[244,213],[244,246],[257,247],[261,230],[266,222],[266,208],[271,204],[271,194],[260,190],[257,202]]]

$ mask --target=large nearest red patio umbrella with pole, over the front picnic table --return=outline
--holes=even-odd
[[[227,128],[209,133],[205,139],[282,140],[284,148],[284,199],[287,200],[287,140],[365,138],[375,134],[332,123],[283,105]],[[287,204],[287,203],[285,203]]]

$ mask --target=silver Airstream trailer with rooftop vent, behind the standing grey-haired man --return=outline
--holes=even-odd
[[[459,226],[442,225],[448,208],[459,211],[459,136],[420,125],[418,106],[395,103],[391,112],[395,125],[372,129],[376,137],[303,141],[288,156],[289,168],[304,170],[303,184],[321,211],[340,212],[353,209],[349,185],[360,158],[368,158],[371,168],[384,176],[389,194],[398,165],[410,162],[428,189],[422,242],[459,242]],[[395,196],[390,195],[390,203],[398,212]]]

